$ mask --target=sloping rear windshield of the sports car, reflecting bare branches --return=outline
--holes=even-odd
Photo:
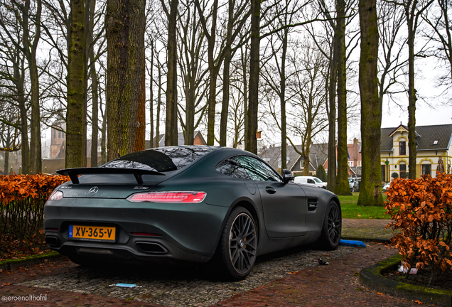
[[[104,168],[138,168],[149,171],[177,171],[214,149],[199,147],[162,147],[137,151],[105,163]]]

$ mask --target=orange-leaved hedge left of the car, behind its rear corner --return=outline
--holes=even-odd
[[[20,240],[26,247],[42,246],[44,203],[67,176],[0,176],[0,238]]]

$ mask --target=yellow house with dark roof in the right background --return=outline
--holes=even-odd
[[[429,174],[436,176],[438,158],[443,159],[444,170],[451,173],[452,124],[416,126],[416,178]],[[392,173],[404,178],[408,172],[408,127],[382,128],[382,181],[389,182]]]

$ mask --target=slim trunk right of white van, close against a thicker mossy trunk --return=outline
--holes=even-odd
[[[336,27],[337,28],[337,27]],[[335,29],[333,38],[333,55],[330,61],[329,104],[328,113],[328,190],[336,188],[336,85],[338,80],[338,37]]]

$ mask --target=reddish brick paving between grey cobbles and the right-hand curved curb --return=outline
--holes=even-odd
[[[419,306],[414,301],[394,298],[358,284],[362,268],[391,257],[397,251],[384,244],[372,244],[327,266],[313,266],[290,276],[232,296],[212,307],[264,306]],[[425,306],[432,306],[425,304]]]

